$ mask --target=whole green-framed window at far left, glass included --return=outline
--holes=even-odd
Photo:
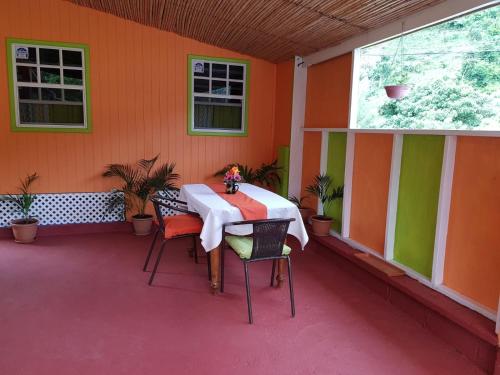
[[[16,38],[6,47],[11,130],[91,132],[89,47]]]

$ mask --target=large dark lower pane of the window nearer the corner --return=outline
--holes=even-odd
[[[195,129],[241,130],[241,115],[241,100],[233,99],[231,103],[228,99],[195,97]]]

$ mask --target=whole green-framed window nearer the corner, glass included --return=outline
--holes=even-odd
[[[188,134],[247,136],[249,77],[247,60],[188,55]]]

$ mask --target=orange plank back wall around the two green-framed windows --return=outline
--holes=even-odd
[[[6,37],[89,45],[91,134],[10,131]],[[0,193],[33,171],[41,192],[108,190],[105,164],[157,153],[177,163],[182,182],[203,181],[231,161],[258,165],[273,157],[275,64],[62,0],[3,0],[0,39]],[[190,53],[251,61],[248,137],[187,135]]]

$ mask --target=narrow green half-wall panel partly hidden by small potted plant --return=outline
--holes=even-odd
[[[333,187],[344,184],[346,146],[347,133],[329,134],[326,174],[332,178]],[[326,211],[326,214],[334,219],[332,229],[340,233],[342,228],[342,200],[335,200]]]

